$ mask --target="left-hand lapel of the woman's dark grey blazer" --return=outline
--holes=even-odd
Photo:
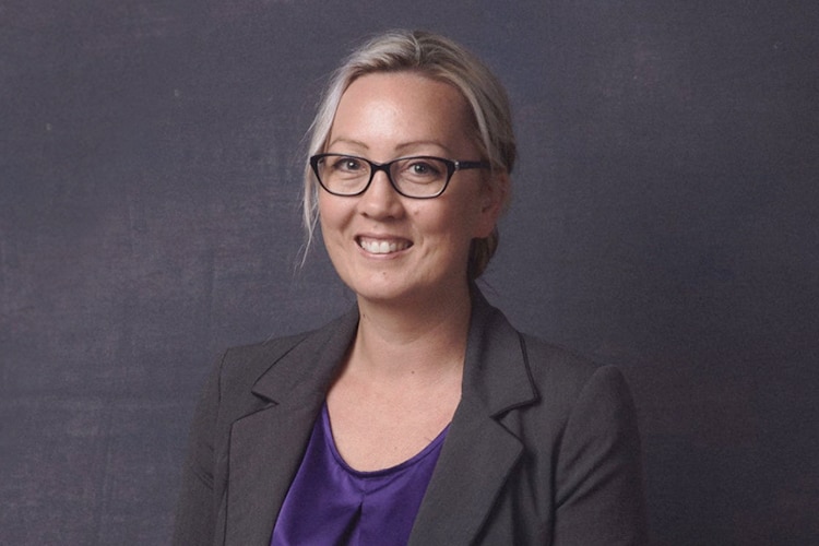
[[[230,429],[225,544],[270,544],[316,417],[357,323],[354,310],[306,336],[271,361],[253,385],[253,394],[265,405],[234,422]]]

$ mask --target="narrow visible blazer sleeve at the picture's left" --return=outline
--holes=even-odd
[[[213,544],[217,500],[214,488],[215,431],[219,407],[221,359],[213,367],[200,396],[188,440],[174,523],[175,546]]]

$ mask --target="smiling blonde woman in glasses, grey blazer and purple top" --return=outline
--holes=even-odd
[[[311,131],[309,237],[357,306],[223,356],[175,543],[643,543],[622,377],[520,334],[474,284],[515,158],[497,79],[440,36],[384,34]]]

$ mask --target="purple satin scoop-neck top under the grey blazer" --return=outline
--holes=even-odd
[[[324,404],[278,513],[271,546],[405,545],[448,429],[397,466],[358,472],[335,449]]]

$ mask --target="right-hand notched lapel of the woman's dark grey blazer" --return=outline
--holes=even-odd
[[[519,333],[475,290],[461,404],[410,537],[411,545],[471,544],[523,446],[499,422],[537,400]]]

